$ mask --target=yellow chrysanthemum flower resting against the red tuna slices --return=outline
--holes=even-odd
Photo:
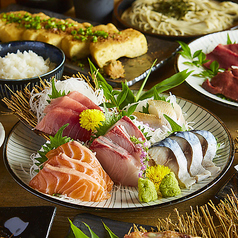
[[[88,131],[95,131],[96,127],[102,124],[102,121],[105,121],[105,115],[97,109],[86,109],[79,115],[81,127]]]

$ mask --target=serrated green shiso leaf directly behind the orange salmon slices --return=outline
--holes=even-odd
[[[62,127],[57,131],[57,133],[55,134],[54,137],[53,137],[53,136],[50,136],[50,141],[49,141],[49,143],[46,143],[45,145],[43,145],[43,146],[41,147],[41,148],[42,148],[42,151],[41,151],[41,150],[38,151],[40,157],[35,158],[35,159],[36,159],[37,161],[39,161],[39,164],[42,164],[42,163],[44,163],[45,161],[48,160],[48,158],[46,157],[46,154],[47,154],[49,151],[51,151],[51,150],[53,150],[53,149],[55,149],[55,148],[57,148],[57,147],[59,147],[59,146],[61,146],[61,145],[63,145],[63,144],[65,144],[65,143],[67,143],[67,142],[69,142],[69,141],[72,140],[70,137],[67,137],[67,136],[64,136],[64,137],[63,137],[63,131],[64,131],[64,129],[65,129],[68,125],[69,125],[69,124],[65,124],[64,126],[62,126]]]

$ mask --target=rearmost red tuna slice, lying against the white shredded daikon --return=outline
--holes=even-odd
[[[55,107],[71,109],[71,110],[73,110],[75,112],[78,112],[78,113],[81,113],[83,110],[88,109],[82,103],[80,103],[80,102],[78,102],[78,101],[76,101],[76,100],[74,100],[70,97],[63,96],[63,97],[52,99],[50,101],[50,104],[45,107],[44,113],[48,113],[49,111],[51,111]]]

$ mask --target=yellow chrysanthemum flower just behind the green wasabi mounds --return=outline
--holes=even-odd
[[[157,192],[159,192],[159,185],[163,177],[169,173],[169,167],[159,164],[146,169],[146,177],[154,183]]]

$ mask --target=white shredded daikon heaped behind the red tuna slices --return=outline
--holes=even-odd
[[[49,83],[50,84],[50,83]],[[55,87],[57,91],[65,91],[66,94],[73,91],[78,91],[91,99],[95,104],[100,105],[104,102],[103,90],[94,91],[87,82],[78,78],[69,78],[62,81],[56,81]],[[44,109],[50,100],[49,94],[52,93],[52,88],[46,88],[40,93],[31,92],[29,101],[31,110],[36,114],[38,122],[45,116]],[[35,100],[36,99],[36,100]]]

